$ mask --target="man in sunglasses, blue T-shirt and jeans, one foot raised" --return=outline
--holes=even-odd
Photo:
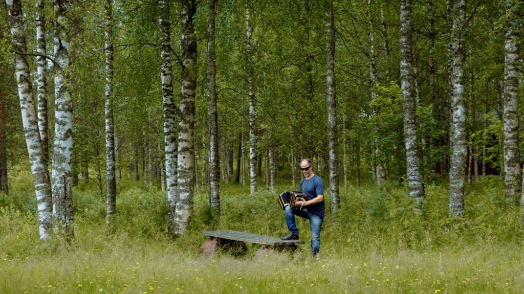
[[[295,215],[309,219],[311,252],[315,256],[320,251],[320,228],[324,220],[324,182],[313,173],[313,162],[310,159],[303,159],[300,162],[300,170],[304,176],[300,182],[300,190],[308,194],[309,200],[298,200],[296,202],[297,207],[301,207],[301,209],[292,209],[290,206],[285,207],[286,222],[290,233],[281,239],[298,240],[299,230],[295,223]]]

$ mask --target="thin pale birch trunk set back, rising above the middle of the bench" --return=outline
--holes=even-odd
[[[249,8],[246,9],[246,41],[247,41],[247,85],[249,88],[249,191],[251,194],[257,191],[257,153],[256,153],[256,105],[255,105],[255,81],[253,65],[253,26],[250,23]]]

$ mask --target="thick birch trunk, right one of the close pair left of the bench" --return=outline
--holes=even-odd
[[[194,115],[195,89],[198,67],[196,65],[196,37],[193,25],[196,2],[182,0],[182,88],[180,122],[178,123],[178,200],[174,212],[174,235],[185,232],[193,210],[194,174]]]

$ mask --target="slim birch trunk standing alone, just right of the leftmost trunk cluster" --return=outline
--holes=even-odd
[[[106,222],[116,212],[115,128],[113,118],[113,0],[105,0]]]

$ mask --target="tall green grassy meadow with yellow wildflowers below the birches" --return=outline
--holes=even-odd
[[[117,220],[105,225],[105,199],[93,184],[74,190],[74,238],[42,244],[29,174],[12,176],[0,196],[0,293],[522,293],[524,253],[518,209],[504,206],[498,177],[467,187],[466,218],[447,218],[445,184],[427,185],[425,212],[405,187],[341,189],[328,208],[319,258],[309,254],[309,223],[298,219],[302,251],[248,244],[243,256],[201,256],[202,230],[287,234],[276,195],[259,182],[222,184],[222,214],[196,193],[190,230],[167,235],[167,198],[154,185],[118,183]],[[290,189],[289,180],[277,190]],[[327,183],[326,183],[327,184]],[[329,207],[329,196],[326,207]],[[110,232],[110,233],[109,233]]]

